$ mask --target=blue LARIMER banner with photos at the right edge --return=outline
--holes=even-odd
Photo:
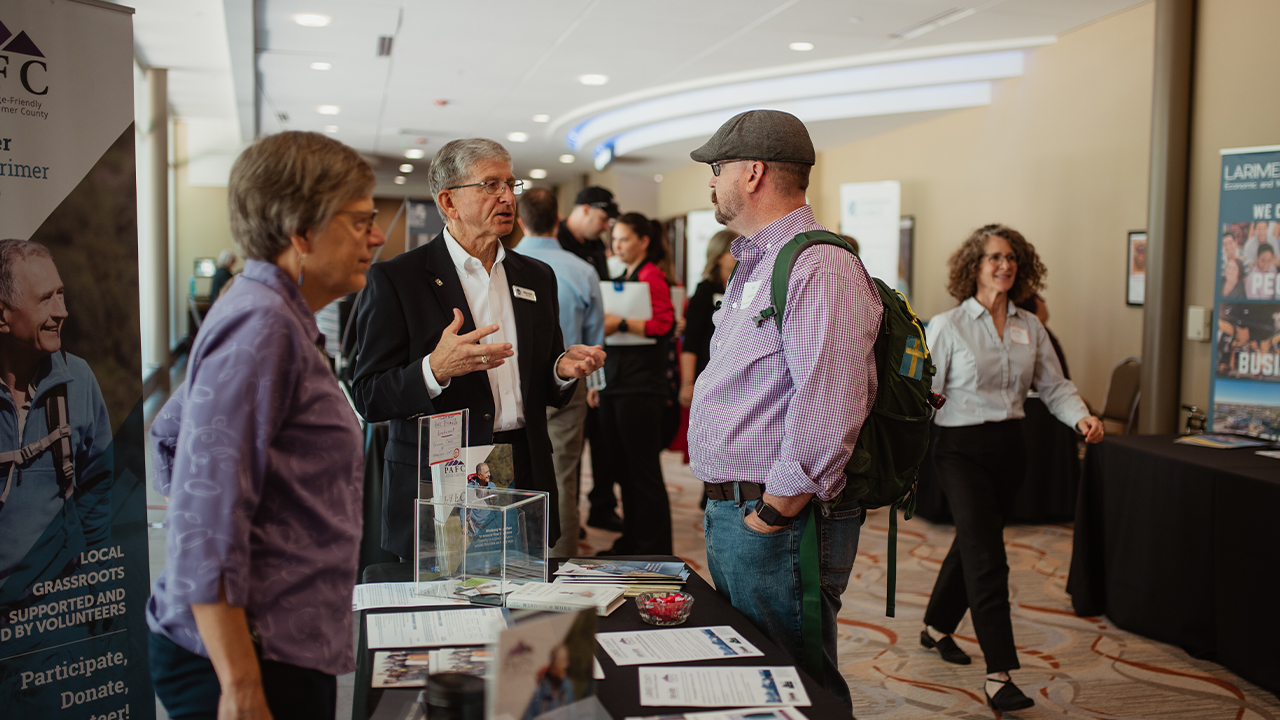
[[[1211,432],[1280,439],[1280,145],[1222,150]]]

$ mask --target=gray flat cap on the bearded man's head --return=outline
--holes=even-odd
[[[695,163],[773,160],[814,164],[813,141],[800,118],[781,110],[748,110],[730,118],[689,154]]]

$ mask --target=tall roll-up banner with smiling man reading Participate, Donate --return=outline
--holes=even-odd
[[[0,5],[4,717],[155,717],[133,132],[132,10]]]

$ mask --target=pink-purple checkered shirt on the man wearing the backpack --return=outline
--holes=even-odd
[[[860,260],[829,245],[791,270],[782,332],[773,260],[801,232],[827,229],[805,205],[733,241],[737,273],[716,311],[710,363],[694,386],[689,456],[704,483],[754,482],[786,497],[831,500],[876,397],[879,293]]]

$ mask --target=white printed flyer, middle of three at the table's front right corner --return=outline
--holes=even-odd
[[[780,667],[641,667],[645,707],[812,705],[800,673]]]

